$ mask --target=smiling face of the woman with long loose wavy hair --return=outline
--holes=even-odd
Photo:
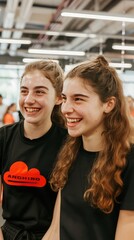
[[[66,79],[62,96],[62,113],[67,121],[68,133],[73,137],[100,136],[105,104],[94,89],[82,79]]]

